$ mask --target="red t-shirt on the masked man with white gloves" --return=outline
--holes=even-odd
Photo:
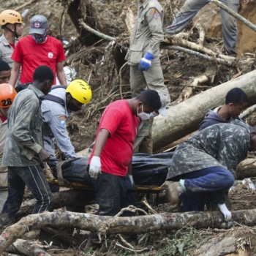
[[[103,172],[116,176],[127,175],[128,165],[132,161],[133,143],[138,124],[138,117],[132,113],[127,100],[117,100],[105,109],[97,130],[97,135],[100,129],[108,129],[110,132],[110,138],[100,156]],[[89,164],[93,155],[94,148]]]

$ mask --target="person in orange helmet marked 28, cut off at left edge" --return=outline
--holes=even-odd
[[[8,64],[7,64],[8,65]],[[9,66],[8,66],[9,67]],[[1,69],[1,63],[0,63]],[[8,83],[0,84],[0,161],[3,158],[4,143],[7,136],[7,115],[10,106],[16,96],[15,89]],[[8,195],[8,168],[0,162],[0,211],[2,210]]]

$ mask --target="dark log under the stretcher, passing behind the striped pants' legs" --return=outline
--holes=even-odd
[[[86,206],[94,203],[95,195],[94,191],[81,191],[80,189],[69,189],[61,192],[53,193],[53,209],[61,208],[64,206]],[[36,199],[25,201],[20,206],[22,214],[31,214]]]

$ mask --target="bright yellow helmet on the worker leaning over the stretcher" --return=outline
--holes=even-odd
[[[84,80],[73,80],[67,86],[66,92],[82,104],[88,104],[91,101],[91,88]]]

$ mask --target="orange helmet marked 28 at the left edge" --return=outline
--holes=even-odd
[[[12,102],[17,95],[14,87],[9,83],[0,84],[0,108],[10,108]]]

